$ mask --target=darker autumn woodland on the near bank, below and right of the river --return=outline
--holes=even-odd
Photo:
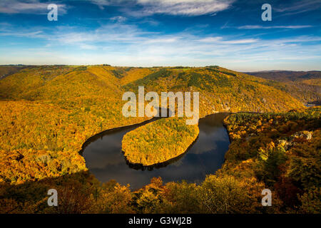
[[[200,185],[184,181],[164,185],[155,177],[150,185],[133,191],[113,180],[101,184],[88,172],[20,185],[2,181],[0,212],[320,213],[320,111],[228,116],[225,125],[232,144],[225,165]],[[11,165],[24,159],[16,153],[7,156],[16,157]],[[41,156],[46,164],[55,162]],[[59,192],[58,207],[46,207],[49,188]],[[261,204],[265,188],[272,191],[271,207]]]

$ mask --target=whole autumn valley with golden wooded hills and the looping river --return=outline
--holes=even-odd
[[[122,95],[138,86],[198,92],[198,125],[123,116]],[[64,192],[60,212],[318,210],[318,178],[305,178],[320,173],[320,108],[264,78],[219,66],[29,66],[0,80],[0,98],[1,212],[56,212],[44,205],[49,186]],[[277,192],[270,209],[260,207],[265,187]]]

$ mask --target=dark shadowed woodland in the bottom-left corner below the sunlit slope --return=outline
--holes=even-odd
[[[108,182],[115,185],[115,181]],[[19,185],[0,184],[0,214],[93,212],[100,182],[89,172],[27,181]],[[58,207],[49,206],[48,191],[57,190]]]

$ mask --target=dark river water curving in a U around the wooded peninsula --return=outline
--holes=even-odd
[[[180,157],[156,167],[142,169],[128,165],[121,152],[123,135],[138,125],[110,130],[93,138],[83,150],[86,166],[101,182],[116,180],[136,189],[147,185],[152,177],[162,177],[163,182],[186,180],[201,182],[205,175],[214,173],[224,162],[230,144],[223,127],[225,113],[209,115],[199,121],[200,134],[187,152]]]

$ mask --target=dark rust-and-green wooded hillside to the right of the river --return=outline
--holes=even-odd
[[[320,117],[320,108],[229,115],[232,143],[220,172],[264,182],[287,212],[320,213]]]

